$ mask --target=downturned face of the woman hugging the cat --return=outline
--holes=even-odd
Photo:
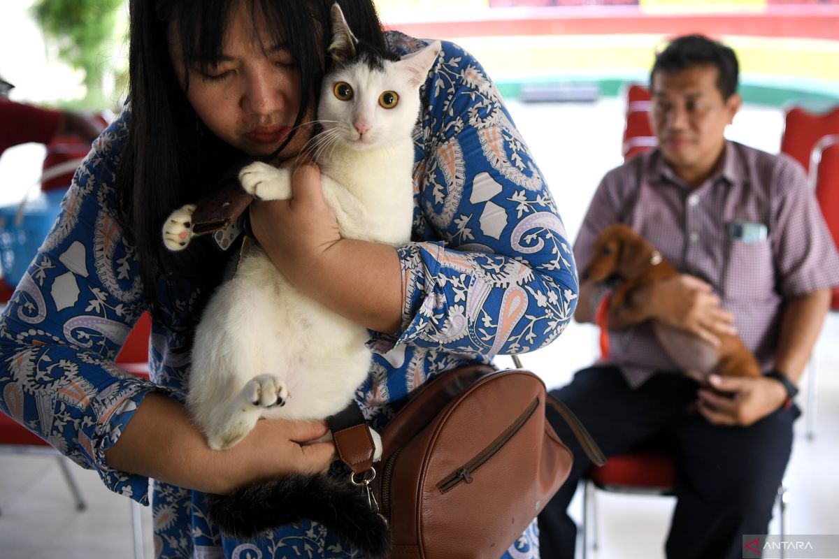
[[[273,153],[289,136],[300,107],[300,74],[285,44],[276,44],[259,14],[256,32],[248,3],[238,8],[227,28],[221,60],[203,73],[185,67],[175,26],[169,32],[169,55],[180,83],[189,72],[186,98],[206,127],[248,155]],[[311,116],[304,118],[304,122]],[[308,133],[300,130],[280,153],[300,153]]]

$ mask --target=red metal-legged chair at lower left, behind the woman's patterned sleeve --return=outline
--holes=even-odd
[[[144,313],[133,330],[128,334],[126,343],[117,355],[117,363],[134,375],[149,378],[149,336],[151,334],[151,318]],[[87,503],[81,495],[76,479],[73,478],[69,458],[61,455],[41,437],[34,435],[4,413],[0,413],[0,453],[13,454],[42,454],[51,456],[58,461],[61,474],[70,489],[70,494],[76,503],[76,510],[87,508]],[[0,511],[2,514],[2,511]],[[141,524],[142,510],[135,500],[131,500],[131,520],[134,535],[134,557],[143,559],[143,532]]]

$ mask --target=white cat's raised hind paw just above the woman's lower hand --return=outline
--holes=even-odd
[[[289,391],[275,375],[258,375],[248,380],[242,391],[206,428],[207,443],[214,450],[224,450],[242,440],[256,425],[263,411],[285,406]]]

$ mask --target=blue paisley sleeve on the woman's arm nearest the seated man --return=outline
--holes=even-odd
[[[396,341],[465,355],[538,349],[565,329],[578,291],[554,196],[470,54],[444,42],[421,93],[418,242],[399,249]]]

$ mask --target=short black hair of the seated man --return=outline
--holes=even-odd
[[[737,54],[734,54],[731,47],[704,35],[683,35],[673,39],[655,57],[653,71],[649,75],[650,85],[656,72],[673,74],[700,65],[717,68],[717,89],[723,99],[727,100],[737,91]]]

